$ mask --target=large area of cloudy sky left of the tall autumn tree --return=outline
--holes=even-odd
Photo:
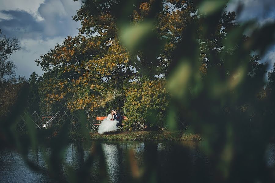
[[[0,1],[0,27],[8,37],[16,36],[22,50],[11,55],[16,75],[28,78],[32,72],[43,71],[35,59],[46,54],[68,35],[78,34],[80,22],[72,20],[81,1],[72,0],[10,0]]]

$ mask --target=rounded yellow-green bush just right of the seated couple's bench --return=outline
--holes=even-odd
[[[150,81],[141,79],[133,82],[125,91],[126,102],[123,106],[124,115],[129,120],[123,122],[132,125],[134,122],[145,123],[148,127],[162,126],[166,122],[166,110],[170,95],[166,91],[165,79]]]

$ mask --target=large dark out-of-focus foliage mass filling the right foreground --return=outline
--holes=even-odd
[[[191,15],[185,23],[178,21],[182,31],[169,30],[168,26],[165,30],[167,22],[161,21],[167,15],[163,12],[165,3],[167,13],[181,11]],[[167,76],[172,95],[168,124],[175,126],[175,109],[186,114],[191,129],[205,137],[205,151],[215,160],[216,181],[271,181],[274,170],[266,166],[263,157],[274,135],[273,109],[266,108],[274,100],[262,96],[266,92],[263,78],[267,66],[259,59],[274,43],[275,25],[237,25],[235,13],[224,12],[226,3],[87,1],[76,17],[111,14],[133,55],[136,70],[152,78],[162,68],[164,72],[160,74]],[[126,16],[131,9],[137,11],[136,17]],[[133,24],[127,24],[128,18]],[[155,20],[159,21],[157,25]],[[83,33],[88,28],[82,27]],[[249,37],[244,35],[248,30]],[[169,46],[166,41],[176,46],[163,49]],[[253,51],[258,55],[252,55]],[[137,55],[140,60],[134,59]]]

